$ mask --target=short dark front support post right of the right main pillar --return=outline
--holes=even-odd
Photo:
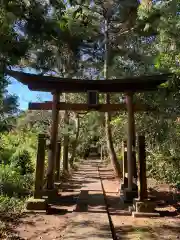
[[[146,147],[145,136],[138,136],[138,158],[139,158],[139,198],[140,201],[147,199],[147,178],[146,178]]]

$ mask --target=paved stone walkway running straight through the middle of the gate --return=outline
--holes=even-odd
[[[111,240],[112,234],[99,178],[99,160],[87,160],[82,171],[86,174],[77,201],[76,212],[69,222],[63,240]]]

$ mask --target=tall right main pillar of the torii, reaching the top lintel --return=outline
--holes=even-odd
[[[127,93],[126,104],[128,112],[128,130],[127,130],[127,161],[128,161],[128,190],[133,187],[133,129],[134,129],[134,111],[133,111],[133,93]]]

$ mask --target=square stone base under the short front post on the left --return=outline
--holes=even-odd
[[[30,198],[26,202],[26,209],[32,211],[47,210],[48,204],[46,199],[34,199]]]

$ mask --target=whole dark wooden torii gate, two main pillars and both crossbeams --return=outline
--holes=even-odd
[[[54,187],[54,168],[56,155],[56,142],[58,130],[59,110],[88,111],[97,110],[102,112],[124,110],[128,112],[128,139],[127,139],[127,162],[128,162],[128,191],[133,189],[133,139],[134,139],[134,111],[151,110],[147,105],[133,104],[133,94],[135,92],[145,92],[157,90],[158,86],[168,80],[169,74],[156,74],[150,76],[128,77],[112,80],[80,80],[59,78],[53,76],[40,76],[17,71],[7,70],[6,73],[18,81],[27,85],[32,91],[51,92],[52,102],[30,103],[29,109],[52,109],[52,127],[50,136],[50,159],[48,166],[48,189]],[[63,103],[60,102],[60,93],[92,92],[98,93],[119,93],[124,92],[127,96],[127,104],[95,104],[89,103]],[[89,94],[90,96],[90,94]]]

